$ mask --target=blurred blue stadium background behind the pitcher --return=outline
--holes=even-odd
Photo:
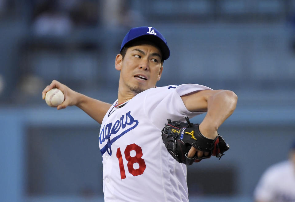
[[[76,107],[49,108],[41,92],[56,79],[112,103],[114,60],[134,26],[167,39],[157,86],[239,97],[219,129],[230,150],[188,167],[190,201],[253,201],[262,172],[287,158],[295,0],[0,0],[0,201],[103,201],[100,125]]]

